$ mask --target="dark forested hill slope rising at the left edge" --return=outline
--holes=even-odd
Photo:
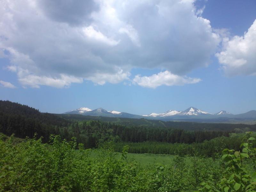
[[[33,138],[36,132],[47,141],[49,135],[59,134],[60,127],[67,127],[70,120],[49,113],[40,113],[35,108],[13,103],[11,101],[0,101],[0,132],[16,137]]]

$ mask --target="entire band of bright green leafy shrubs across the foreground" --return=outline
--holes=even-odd
[[[0,191],[255,191],[255,142],[249,135],[240,151],[222,158],[175,156],[169,165],[141,166],[106,144],[91,157],[83,144],[51,135],[49,144],[11,136],[0,139]],[[76,150],[78,148],[79,150]]]

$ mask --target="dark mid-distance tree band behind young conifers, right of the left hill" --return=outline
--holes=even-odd
[[[66,131],[65,131],[66,130]],[[216,137],[229,136],[221,131],[186,131],[172,128],[152,128],[145,126],[123,126],[100,121],[83,121],[72,123],[68,128],[60,128],[63,138],[75,136],[86,148],[96,147],[105,141],[114,142],[167,142],[167,143],[200,143]]]

